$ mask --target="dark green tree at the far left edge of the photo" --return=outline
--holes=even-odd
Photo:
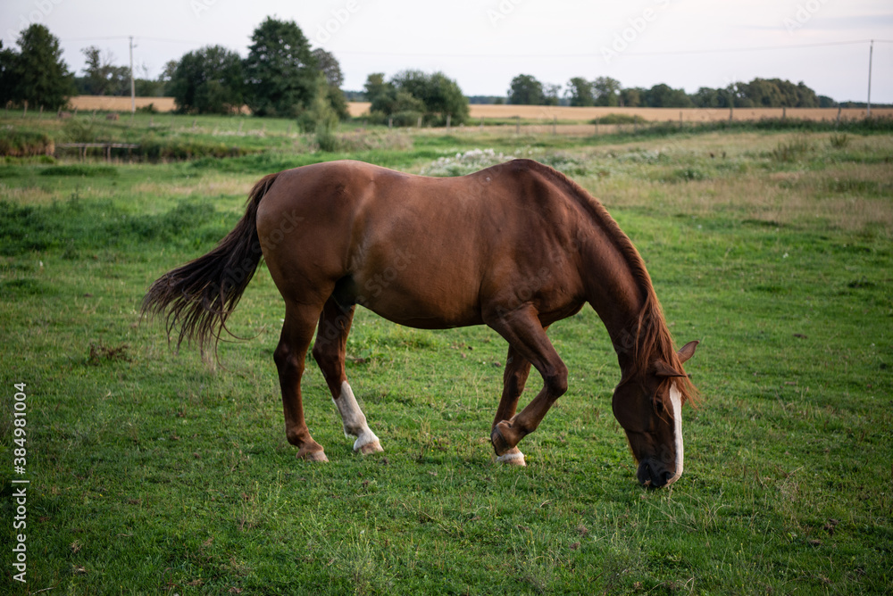
[[[30,25],[18,40],[19,52],[0,53],[3,96],[13,103],[28,102],[56,110],[76,93],[74,75],[62,59],[59,40],[43,25]]]

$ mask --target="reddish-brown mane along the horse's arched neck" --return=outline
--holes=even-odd
[[[597,220],[597,225],[605,231],[605,234],[614,244],[618,251],[623,255],[624,260],[630,267],[630,272],[636,280],[639,291],[643,297],[643,307],[638,313],[638,319],[630,321],[630,333],[636,338],[635,344],[632,346],[632,359],[630,373],[638,375],[647,372],[655,360],[659,358],[664,360],[674,370],[684,373],[679,355],[673,346],[672,335],[667,327],[666,319],[663,317],[663,308],[661,302],[655,294],[655,287],[651,283],[651,276],[645,268],[645,261],[638,253],[635,245],[632,244],[630,237],[623,233],[617,222],[614,221],[611,214],[605,209],[602,203],[590,195],[588,191],[574,182],[571,178],[565,176],[562,172],[549,168],[536,161],[534,168],[544,177],[546,177],[555,185],[563,188],[563,190],[576,199],[580,206]],[[621,383],[626,380],[624,378]],[[668,377],[664,384],[669,385],[674,380]],[[681,395],[682,402],[695,401],[697,399],[697,389],[692,385],[689,377],[677,377],[676,389]],[[663,395],[669,394],[669,386],[661,387],[659,393]]]

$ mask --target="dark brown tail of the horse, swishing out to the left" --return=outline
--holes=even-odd
[[[230,333],[226,320],[263,256],[257,236],[257,206],[277,176],[270,174],[255,184],[245,215],[211,252],[168,271],[149,287],[142,312],[166,312],[168,335],[179,326],[178,348],[185,339],[190,344],[195,341],[202,352],[211,344],[216,350],[221,333]]]

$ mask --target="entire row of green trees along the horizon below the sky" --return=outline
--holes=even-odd
[[[469,98],[443,72],[403,70],[390,79],[372,73],[363,92],[341,89],[338,60],[312,48],[295,21],[267,17],[253,32],[245,58],[224,46],[204,46],[165,64],[157,79],[136,78],[137,95],[173,96],[183,113],[235,113],[243,105],[258,116],[296,118],[305,129],[332,126],[348,117],[347,100],[371,102],[371,121],[437,126],[468,118]],[[0,42],[0,102],[62,108],[72,95],[129,95],[130,70],[96,46],[83,48],[86,66],[75,76],[62,59],[59,40],[44,25],[21,31],[18,50]],[[145,73],[144,69],[144,73]],[[574,77],[564,86],[528,74],[512,79],[505,97],[472,98],[475,103],[659,108],[800,107],[838,105],[803,82],[753,79],[724,88],[701,87],[693,94],[664,83],[622,87],[610,77]]]

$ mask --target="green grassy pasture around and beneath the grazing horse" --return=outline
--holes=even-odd
[[[226,129],[252,153],[0,165],[0,535],[27,544],[27,584],[7,546],[0,592],[889,593],[893,135],[369,129],[334,154],[286,120],[247,119],[254,137],[193,120],[153,126],[184,142]],[[680,480],[638,486],[611,412],[616,357],[588,308],[550,329],[570,390],[524,440],[527,468],[493,461],[506,346],[486,327],[420,331],[358,310],[347,374],[385,451],[351,451],[311,362],[320,465],[285,440],[283,305],[263,266],[231,319],[248,339],[221,344],[219,366],[140,321],[147,286],[225,235],[257,178],[346,156],[438,176],[532,157],[599,197],[678,343],[702,342]]]

